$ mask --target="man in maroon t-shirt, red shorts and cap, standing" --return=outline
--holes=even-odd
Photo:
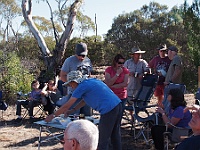
[[[153,69],[153,73],[159,75],[159,80],[154,95],[158,99],[158,105],[161,106],[162,100],[164,98],[165,76],[171,63],[171,60],[166,55],[167,46],[165,44],[160,45],[156,50],[158,50],[159,55],[155,56],[152,60],[150,60],[149,68]]]

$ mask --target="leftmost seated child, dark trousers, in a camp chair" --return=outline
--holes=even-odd
[[[33,108],[39,104],[41,104],[40,98],[41,98],[41,89],[40,83],[38,80],[33,80],[31,83],[31,87],[33,90],[29,93],[29,97],[27,100],[17,100],[17,111],[16,115],[18,115],[18,118],[15,120],[16,122],[21,122],[22,116],[21,116],[21,106],[24,106],[28,108],[30,119],[33,119]]]

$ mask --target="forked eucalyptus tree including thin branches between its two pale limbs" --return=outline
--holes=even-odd
[[[58,20],[58,18],[54,17],[54,12],[51,7],[51,1],[48,1],[48,0],[43,0],[43,1],[47,3],[50,9],[50,14],[51,14],[50,19],[51,19],[51,25],[53,28],[53,33],[54,33],[53,36],[54,36],[54,41],[55,41],[55,48],[53,51],[49,50],[44,37],[42,36],[40,30],[38,29],[38,27],[41,27],[41,25],[37,27],[37,25],[34,22],[34,19],[32,16],[32,0],[22,0],[21,6],[22,6],[22,12],[23,12],[23,17],[25,19],[25,22],[27,23],[29,30],[33,34],[40,48],[40,52],[42,54],[42,58],[46,66],[46,72],[47,74],[50,74],[51,76],[52,73],[55,73],[57,67],[62,62],[63,56],[66,51],[66,47],[70,41],[70,37],[75,27],[78,10],[80,9],[81,4],[83,3],[83,0],[74,0],[74,2],[71,4],[68,11],[67,11],[66,5],[68,4],[67,2],[69,2],[69,0],[56,0],[56,2],[58,2],[59,4],[58,17],[60,18],[61,24],[63,25],[62,32],[60,32],[56,27],[55,23],[57,22],[55,22],[55,20]]]

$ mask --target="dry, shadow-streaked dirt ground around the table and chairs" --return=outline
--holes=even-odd
[[[187,100],[188,105],[194,103],[194,95],[186,94],[185,99]],[[155,103],[156,99],[153,97],[151,103]],[[3,118],[2,118],[3,117]],[[39,137],[39,125],[32,123],[29,119],[25,119],[22,123],[14,123],[15,107],[9,106],[6,111],[3,112],[0,122],[0,149],[3,150],[35,150],[37,149],[38,137]],[[35,119],[38,121],[41,118]],[[126,123],[125,120],[122,120],[123,123]],[[59,130],[53,129],[55,133],[58,133]],[[152,146],[145,144],[144,140],[138,139],[134,140],[133,134],[130,131],[130,125],[122,126],[122,143],[123,150],[145,150],[152,149]],[[137,131],[136,131],[137,132]],[[42,137],[46,137],[47,133],[42,132]],[[58,140],[51,140],[41,144],[41,150],[61,150],[62,144]]]

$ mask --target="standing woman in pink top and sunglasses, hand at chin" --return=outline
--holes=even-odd
[[[105,70],[105,83],[121,99],[123,107],[127,100],[129,76],[128,69],[123,66],[124,61],[124,57],[117,54],[113,59],[112,66],[107,67]]]

